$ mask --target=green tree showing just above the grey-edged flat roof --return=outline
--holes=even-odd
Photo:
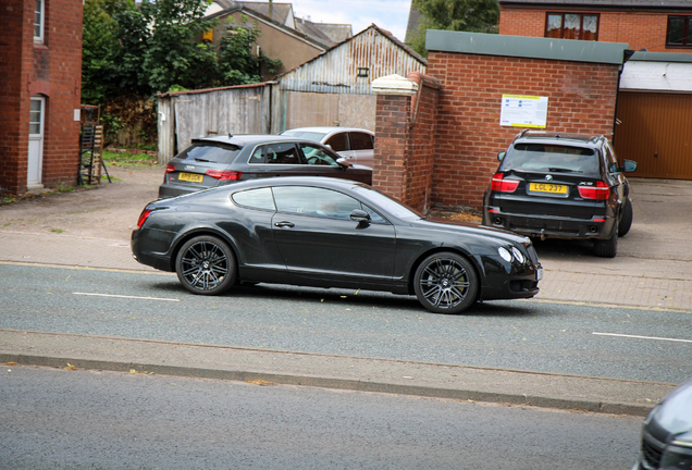
[[[497,33],[497,0],[412,0],[412,4],[418,9],[421,22],[410,46],[422,55],[428,55],[428,29]]]

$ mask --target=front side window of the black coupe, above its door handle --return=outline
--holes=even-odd
[[[354,209],[361,209],[358,200],[331,189],[276,186],[273,191],[282,212],[349,219]]]

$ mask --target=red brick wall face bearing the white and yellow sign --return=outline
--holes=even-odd
[[[503,95],[547,97],[548,132],[611,136],[617,65],[435,51],[428,64],[428,74],[442,86],[434,203],[482,208],[497,152],[521,131],[499,125]]]

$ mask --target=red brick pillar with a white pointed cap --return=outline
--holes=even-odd
[[[407,201],[411,99],[417,89],[416,83],[399,75],[372,82],[378,96],[372,186],[403,202]]]

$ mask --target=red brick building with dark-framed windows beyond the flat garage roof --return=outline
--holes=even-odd
[[[689,0],[499,0],[499,34],[692,52]]]

